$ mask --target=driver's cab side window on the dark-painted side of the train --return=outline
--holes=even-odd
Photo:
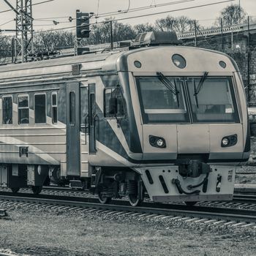
[[[111,99],[113,99],[113,101],[116,101],[116,106],[111,106]],[[113,108],[116,109],[113,110]],[[105,89],[104,116],[107,118],[121,118],[125,116],[124,96],[119,86],[116,88]]]

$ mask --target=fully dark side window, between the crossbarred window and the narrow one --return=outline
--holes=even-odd
[[[34,122],[35,124],[46,123],[46,95],[34,94]]]

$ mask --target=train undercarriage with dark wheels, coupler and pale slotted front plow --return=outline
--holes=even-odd
[[[184,160],[178,165],[158,167],[94,167],[90,178],[61,177],[60,167],[48,165],[0,165],[0,187],[29,187],[39,194],[43,186],[55,184],[72,189],[89,189],[100,203],[128,197],[139,206],[144,197],[154,202],[184,201],[193,205],[202,200],[232,200],[236,167],[208,165]]]

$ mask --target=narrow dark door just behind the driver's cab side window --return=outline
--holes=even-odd
[[[89,85],[89,154],[96,154],[97,105],[95,84]]]

